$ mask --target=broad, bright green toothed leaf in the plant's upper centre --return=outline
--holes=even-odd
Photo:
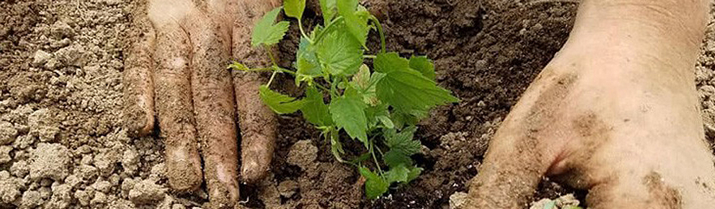
[[[338,25],[338,27],[344,24]],[[344,29],[336,29],[326,34],[317,45],[317,56],[332,75],[348,76],[358,72],[363,64],[363,49],[360,43],[350,38]]]

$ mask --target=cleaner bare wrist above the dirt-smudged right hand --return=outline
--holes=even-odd
[[[603,69],[662,69],[691,76],[709,9],[700,3],[584,0],[568,41],[554,59],[570,56],[563,60],[574,60],[576,56]]]

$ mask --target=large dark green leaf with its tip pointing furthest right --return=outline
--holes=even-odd
[[[459,101],[450,91],[410,68],[408,60],[397,53],[379,53],[374,65],[375,71],[386,74],[377,84],[378,98],[399,111],[426,112],[434,106]]]

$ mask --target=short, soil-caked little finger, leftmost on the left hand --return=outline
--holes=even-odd
[[[124,127],[130,136],[144,136],[154,128],[154,81],[152,80],[154,28],[144,14],[133,9],[127,58],[124,59]]]

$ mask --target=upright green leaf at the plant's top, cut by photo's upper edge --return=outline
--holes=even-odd
[[[337,12],[345,19],[347,30],[350,35],[360,43],[360,46],[365,46],[365,41],[368,39],[368,16],[358,16],[358,0],[340,0],[337,1]]]

